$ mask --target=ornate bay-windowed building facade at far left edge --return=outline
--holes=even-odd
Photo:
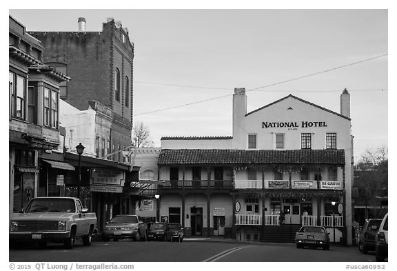
[[[59,145],[59,85],[69,77],[42,61],[43,46],[9,17],[9,214],[39,194],[39,156]]]

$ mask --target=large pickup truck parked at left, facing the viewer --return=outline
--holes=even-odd
[[[73,248],[75,239],[83,239],[83,245],[91,245],[95,233],[95,213],[83,208],[77,198],[37,197],[10,219],[11,247],[22,241],[37,242],[43,248],[50,241]]]

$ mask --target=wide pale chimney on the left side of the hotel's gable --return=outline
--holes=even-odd
[[[245,114],[247,114],[247,96],[245,95],[245,88],[234,88],[233,139],[236,141],[236,143],[245,143],[244,138],[247,137],[243,127]],[[238,146],[237,148],[244,147]]]

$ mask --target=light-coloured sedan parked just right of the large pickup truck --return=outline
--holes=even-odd
[[[110,238],[114,241],[125,238],[141,241],[142,238],[147,238],[147,225],[137,215],[117,215],[106,223],[102,231],[103,241],[109,241]]]

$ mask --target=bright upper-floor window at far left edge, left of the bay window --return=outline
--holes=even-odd
[[[26,119],[26,77],[9,72],[9,88],[11,96],[11,116]]]

